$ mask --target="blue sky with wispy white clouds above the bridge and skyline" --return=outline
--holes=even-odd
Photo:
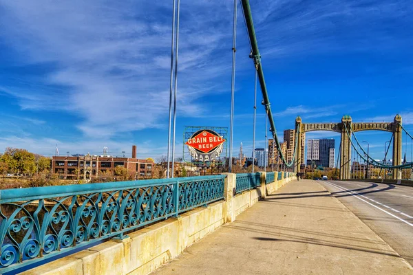
[[[0,0],[0,151],[53,155],[58,144],[61,153],[108,146],[130,154],[136,144],[138,157],[166,155],[171,3]],[[232,8],[181,1],[177,156],[185,125],[229,126]],[[413,132],[411,1],[260,0],[251,8],[278,133],[297,115],[367,122],[396,113]],[[254,82],[240,9],[238,19],[235,155],[240,142],[251,152]],[[257,118],[262,147],[261,105]],[[390,133],[357,136],[383,157]]]

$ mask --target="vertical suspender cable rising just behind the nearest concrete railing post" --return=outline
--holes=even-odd
[[[234,96],[235,96],[235,46],[237,42],[237,0],[234,0],[234,26],[233,26],[233,65],[231,78],[231,117],[229,119],[229,173],[232,171],[233,132],[234,132]]]

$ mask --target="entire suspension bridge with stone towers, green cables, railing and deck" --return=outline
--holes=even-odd
[[[234,5],[236,22],[237,1]],[[294,172],[234,174],[229,162],[229,173],[222,175],[1,190],[2,274],[363,274],[366,269],[413,274],[413,213],[398,204],[411,205],[413,189],[296,177],[304,161],[300,133],[334,131],[341,134],[339,179],[351,178],[352,151],[372,166],[392,170],[392,179],[401,179],[401,170],[413,164],[412,159],[402,160],[402,135],[406,142],[413,137],[401,116],[366,123],[344,115],[341,122],[318,124],[297,117],[295,152],[288,162],[277,135],[249,1],[242,0],[241,6],[268,131],[279,159]],[[175,10],[179,14],[179,0],[174,20]],[[235,36],[233,56],[235,65]],[[173,101],[176,107],[176,81],[171,78]],[[168,160],[169,153],[173,159],[175,143],[171,110]],[[233,108],[230,159],[232,124]],[[373,159],[357,139],[357,132],[373,130],[392,133],[391,165]],[[390,144],[386,149],[385,157]],[[390,230],[398,245],[381,234]]]

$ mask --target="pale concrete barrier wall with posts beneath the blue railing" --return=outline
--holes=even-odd
[[[259,188],[233,196],[235,174],[226,175],[225,201],[197,208],[178,218],[169,218],[129,233],[123,240],[112,239],[21,274],[149,274],[224,223],[234,221],[238,214],[264,198],[266,192],[277,190],[293,180],[289,178],[265,184],[264,173]]]

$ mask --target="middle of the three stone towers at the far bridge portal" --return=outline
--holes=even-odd
[[[350,179],[351,177],[351,124],[352,120],[350,115],[343,115],[341,119],[340,179]],[[344,125],[347,126],[347,130]],[[350,137],[348,135],[350,135]]]

